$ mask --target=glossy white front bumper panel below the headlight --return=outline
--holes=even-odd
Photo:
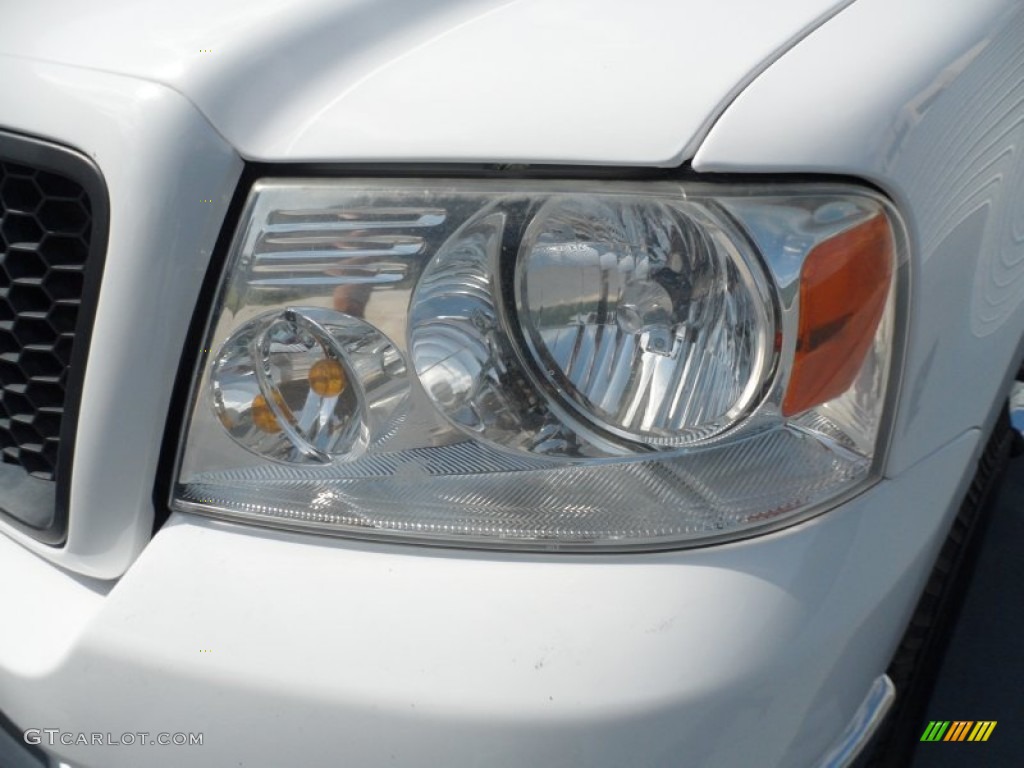
[[[59,749],[84,768],[812,765],[885,669],[978,438],[800,526],[686,552],[454,552],[175,516],[102,597],[0,537],[0,585],[18,583],[0,615],[68,616],[42,648],[0,639],[0,710],[205,734]]]

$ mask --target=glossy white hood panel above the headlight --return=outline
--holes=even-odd
[[[250,159],[674,166],[847,2],[35,0],[2,49],[163,83]]]

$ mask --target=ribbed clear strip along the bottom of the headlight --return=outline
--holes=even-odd
[[[868,469],[812,434],[777,429],[677,459],[557,467],[467,441],[334,467],[198,474],[176,496],[190,511],[346,535],[635,549],[792,522]]]

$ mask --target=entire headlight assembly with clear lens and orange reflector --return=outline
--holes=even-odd
[[[800,519],[872,477],[901,243],[846,186],[258,182],[172,504],[565,549]]]

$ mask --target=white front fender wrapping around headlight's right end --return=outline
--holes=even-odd
[[[1024,355],[1022,41],[1017,0],[858,0],[740,94],[693,159],[698,172],[865,177],[906,214],[894,474],[991,424]]]

